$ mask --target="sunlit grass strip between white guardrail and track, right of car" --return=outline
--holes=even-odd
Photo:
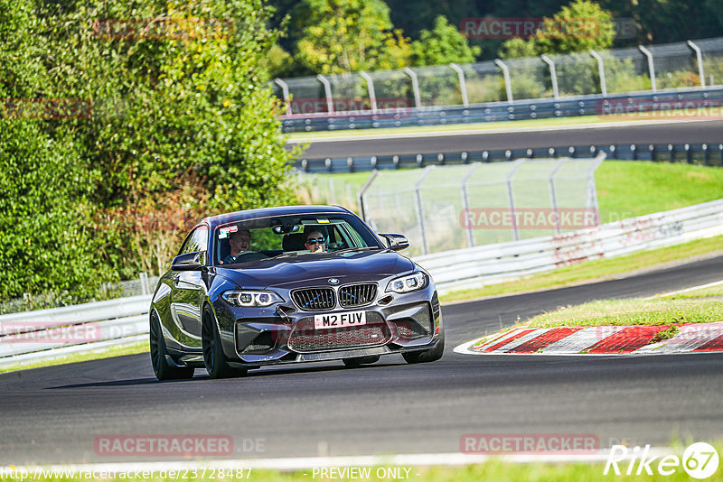
[[[715,253],[721,249],[723,249],[723,236],[697,239],[677,246],[666,246],[631,255],[563,266],[555,271],[536,274],[515,282],[490,284],[474,290],[450,292],[440,296],[439,300],[442,302],[466,301],[486,296],[551,290],[591,281],[605,281],[623,273],[654,269],[656,266],[690,260],[695,256]],[[684,293],[681,296],[688,294]]]

